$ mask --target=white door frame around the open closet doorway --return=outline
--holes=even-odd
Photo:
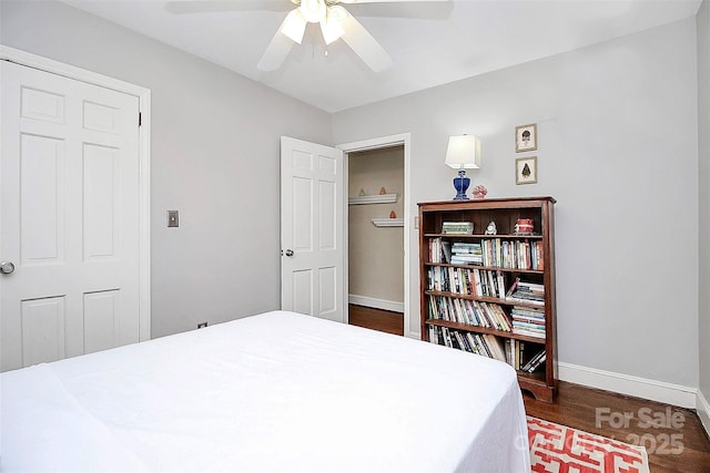
[[[404,247],[404,335],[405,337],[409,337],[409,338],[419,338],[419,332],[418,332],[418,326],[417,326],[417,331],[414,331],[410,329],[409,327],[409,297],[410,297],[410,288],[409,288],[409,256],[410,256],[410,251],[409,251],[409,240],[410,240],[410,235],[409,233],[412,232],[412,205],[410,205],[410,200],[412,200],[412,192],[410,192],[410,172],[412,172],[412,161],[410,161],[410,148],[412,148],[412,136],[409,133],[399,133],[399,134],[395,134],[395,135],[387,135],[387,136],[379,136],[379,137],[375,137],[375,138],[371,138],[371,140],[364,140],[364,141],[357,141],[357,142],[352,142],[352,143],[345,143],[345,144],[339,144],[336,145],[335,147],[338,150],[343,151],[343,173],[344,173],[344,184],[343,184],[343,194],[344,194],[344,198],[343,198],[343,215],[344,215],[344,238],[345,238],[345,261],[344,261],[344,299],[345,299],[345,307],[344,307],[344,313],[345,313],[345,322],[348,322],[348,297],[349,297],[349,290],[348,290],[348,266],[349,266],[349,251],[348,251],[348,212],[349,212],[349,207],[347,205],[347,197],[348,197],[348,183],[349,183],[349,176],[348,176],[348,161],[349,160],[349,153],[355,153],[355,152],[361,152],[361,151],[371,151],[371,150],[382,150],[382,148],[387,148],[387,147],[393,147],[393,146],[399,146],[402,145],[404,147],[404,189],[403,189],[403,198],[404,198],[404,236],[403,236],[403,247]],[[418,323],[418,322],[417,322]]]

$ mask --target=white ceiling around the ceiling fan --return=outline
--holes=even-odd
[[[64,0],[326,112],[403,95],[694,17],[701,0],[448,0],[347,4],[392,55],[375,73],[316,24],[256,69],[290,0]],[[372,1],[372,0],[371,0]]]

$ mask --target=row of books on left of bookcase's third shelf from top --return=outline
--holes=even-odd
[[[506,297],[505,277],[499,270],[430,266],[427,277],[428,290],[500,299]]]

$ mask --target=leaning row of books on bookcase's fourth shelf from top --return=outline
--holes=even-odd
[[[513,331],[510,318],[497,304],[446,296],[429,296],[428,302],[432,319]]]

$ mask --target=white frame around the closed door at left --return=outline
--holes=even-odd
[[[139,99],[139,341],[151,339],[151,90],[0,44],[0,60],[111,89]],[[139,120],[136,116],[135,120]]]

